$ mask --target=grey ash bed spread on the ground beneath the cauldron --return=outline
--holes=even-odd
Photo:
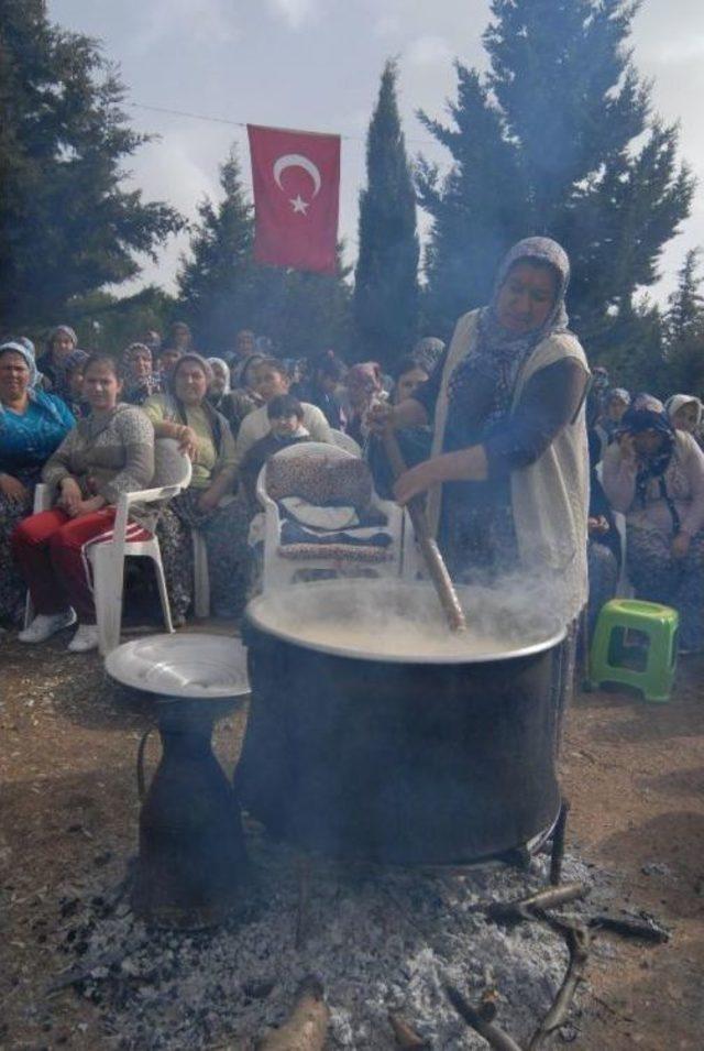
[[[70,959],[57,986],[96,1005],[106,1048],[250,1051],[286,1018],[308,974],[331,1008],[328,1045],[355,1051],[395,1047],[389,1011],[437,1051],[485,1048],[448,1004],[448,982],[475,1001],[497,990],[498,1021],[519,1042],[552,1003],[564,943],[539,923],[506,929],[477,910],[543,887],[543,861],[530,873],[411,873],[315,858],[301,895],[300,855],[263,835],[249,846],[252,887],[216,931],[147,930],[124,896],[116,902],[95,884],[63,898],[61,949]],[[565,878],[588,882],[588,872],[568,860]]]

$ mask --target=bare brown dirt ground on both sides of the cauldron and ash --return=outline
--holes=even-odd
[[[134,759],[148,711],[65,639],[0,639],[0,1048],[100,1049],[91,1005],[46,990],[69,962],[50,937],[59,898],[87,872],[114,886],[134,854]],[[562,785],[570,850],[612,874],[616,905],[672,930],[664,945],[613,939],[588,967],[573,1047],[704,1047],[704,659],[685,658],[671,703],[583,693],[569,714]],[[230,769],[244,710],[219,726]],[[158,756],[152,743],[147,760]],[[617,911],[617,909],[616,909]],[[557,1040],[557,1045],[560,1040]]]

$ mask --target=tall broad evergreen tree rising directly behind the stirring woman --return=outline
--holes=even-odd
[[[443,255],[454,254],[454,266],[471,278],[483,260],[492,270],[497,241],[507,248],[518,236],[551,236],[572,259],[573,327],[587,349],[608,353],[619,313],[631,319],[637,289],[657,280],[661,249],[688,216],[693,193],[678,164],[676,128],[650,121],[650,89],[631,63],[627,41],[637,7],[493,0],[484,36],[488,74],[482,81],[460,67],[455,127],[443,129],[454,167],[437,199],[424,201],[433,218],[431,305],[449,299],[442,274],[453,264]],[[474,171],[458,196],[458,172],[468,164]],[[425,189],[421,180],[421,196]],[[446,231],[480,207],[496,216],[492,237],[480,230],[453,250]],[[455,295],[452,313],[474,305],[473,294],[462,302]]]

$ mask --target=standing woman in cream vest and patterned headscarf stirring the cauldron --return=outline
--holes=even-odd
[[[428,493],[453,579],[512,571],[543,581],[565,623],[586,603],[588,368],[568,329],[570,263],[548,238],[504,259],[488,306],[465,314],[428,383],[374,427],[433,425],[430,459],[403,474],[399,503]]]

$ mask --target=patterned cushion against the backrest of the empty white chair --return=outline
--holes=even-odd
[[[266,464],[266,491],[272,500],[300,496],[311,504],[351,505],[364,511],[372,500],[372,475],[363,460],[307,456]]]

